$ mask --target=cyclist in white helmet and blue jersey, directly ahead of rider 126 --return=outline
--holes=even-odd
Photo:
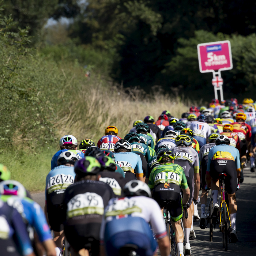
[[[77,155],[78,159],[84,157],[84,153],[77,150],[77,139],[73,135],[65,135],[60,138],[60,150],[54,154],[51,161],[51,170],[58,166],[57,159],[59,155],[65,151],[73,152]]]

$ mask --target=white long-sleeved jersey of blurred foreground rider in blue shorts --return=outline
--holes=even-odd
[[[113,219],[140,217],[150,223],[157,238],[166,236],[166,226],[158,203],[146,196],[112,198],[105,208],[99,238],[104,240],[105,225]]]

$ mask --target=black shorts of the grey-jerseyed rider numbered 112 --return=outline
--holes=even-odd
[[[190,190],[190,197],[188,200],[189,204],[192,204],[193,202],[193,197],[194,197],[194,187],[195,187],[195,182],[194,182],[194,167],[192,163],[186,161],[186,160],[174,160],[174,163],[179,165],[185,173],[185,176],[187,178],[188,182],[188,187]]]

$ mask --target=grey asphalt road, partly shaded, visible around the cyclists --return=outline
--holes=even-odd
[[[44,192],[33,193],[32,197],[44,208]],[[210,242],[209,225],[207,229],[202,230],[199,228],[199,222],[194,222],[196,239],[190,241],[193,256],[256,255],[256,174],[251,173],[249,168],[244,171],[244,182],[237,191],[236,197],[238,205],[236,229],[239,241],[236,244],[229,244],[228,251],[225,252],[222,248],[222,235],[217,228]],[[200,204],[198,212],[200,216]]]

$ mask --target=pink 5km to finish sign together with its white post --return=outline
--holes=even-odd
[[[230,41],[198,44],[197,54],[200,72],[212,72],[215,99],[218,99],[219,90],[221,101],[223,101],[223,79],[221,78],[221,71],[233,68]]]

